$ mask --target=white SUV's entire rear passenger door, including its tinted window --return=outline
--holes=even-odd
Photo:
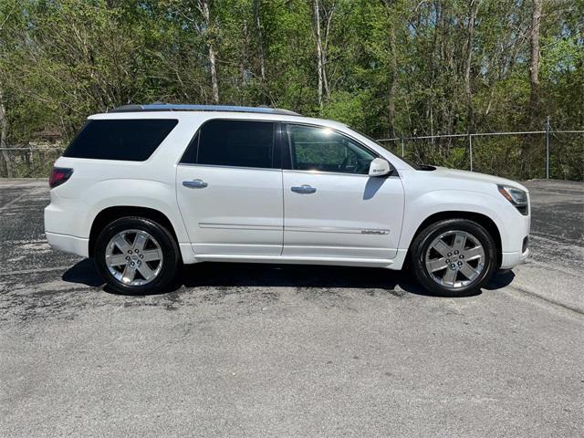
[[[280,255],[278,124],[210,120],[177,168],[176,193],[196,255]]]

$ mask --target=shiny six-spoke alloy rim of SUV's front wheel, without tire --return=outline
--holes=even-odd
[[[465,231],[449,231],[428,246],[425,266],[432,279],[443,287],[465,287],[481,275],[485,248]]]

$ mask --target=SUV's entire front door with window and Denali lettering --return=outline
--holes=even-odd
[[[398,176],[368,176],[374,151],[328,128],[287,125],[283,255],[391,259],[403,216]]]

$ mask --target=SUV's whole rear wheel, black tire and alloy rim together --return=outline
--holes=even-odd
[[[130,295],[166,291],[180,265],[171,233],[142,217],[123,217],[108,224],[96,240],[94,258],[108,285]]]

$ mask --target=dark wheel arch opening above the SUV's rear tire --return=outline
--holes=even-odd
[[[89,256],[93,256],[95,249],[95,242],[98,238],[99,233],[107,224],[111,224],[113,221],[127,216],[139,216],[146,219],[151,219],[152,221],[164,226],[174,238],[174,241],[179,245],[179,239],[174,230],[174,226],[170,219],[159,210],[140,207],[134,205],[115,205],[104,208],[95,216],[93,222],[91,223],[91,229],[89,231]]]

